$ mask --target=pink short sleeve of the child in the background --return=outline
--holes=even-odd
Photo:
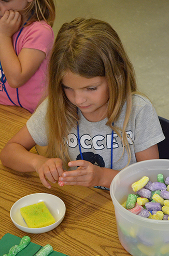
[[[31,48],[44,51],[46,55],[50,52],[54,34],[51,26],[45,22],[34,22],[30,26],[25,27],[26,36],[22,42],[22,48]]]

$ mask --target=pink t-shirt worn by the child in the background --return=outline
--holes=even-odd
[[[8,85],[5,77],[2,77],[2,72],[0,70],[0,104],[3,105],[17,105],[24,107],[24,109],[29,110],[31,113],[34,112],[36,106],[44,94],[46,89],[46,74],[47,74],[47,65],[49,61],[49,55],[51,48],[53,46],[54,35],[51,26],[49,26],[45,21],[36,21],[23,28],[21,34],[19,31],[12,36],[13,47],[16,50],[16,40],[17,40],[17,55],[19,55],[22,48],[32,48],[44,51],[46,53],[46,58],[40,64],[38,70],[35,74],[21,87],[17,89],[11,88]],[[18,37],[18,39],[17,39]],[[0,56],[1,60],[1,56]],[[4,73],[3,73],[4,76]],[[5,82],[5,88],[2,83],[2,79]],[[13,104],[10,99],[13,101]],[[19,100],[18,100],[19,97]],[[20,104],[19,104],[20,102]]]

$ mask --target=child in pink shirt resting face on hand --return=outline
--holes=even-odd
[[[0,2],[0,104],[36,109],[46,89],[54,18],[53,0]]]

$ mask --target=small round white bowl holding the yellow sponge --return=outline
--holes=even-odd
[[[55,219],[55,223],[46,226],[46,227],[39,227],[39,228],[30,228],[27,227],[22,215],[20,213],[20,208],[37,204],[41,201],[44,201],[45,205],[49,209],[50,213],[53,215]],[[57,227],[63,220],[66,212],[66,207],[64,202],[57,196],[47,193],[37,193],[31,194],[22,197],[11,207],[10,209],[10,218],[20,230],[33,233],[33,234],[40,234],[45,233],[48,231],[53,230],[53,228]]]

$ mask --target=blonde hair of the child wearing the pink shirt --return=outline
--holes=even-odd
[[[45,20],[51,27],[55,19],[54,0],[33,0],[24,10],[19,10],[23,16],[30,16],[29,22]]]

